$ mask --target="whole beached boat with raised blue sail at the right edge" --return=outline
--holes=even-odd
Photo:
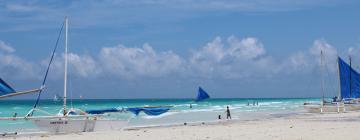
[[[333,101],[325,100],[324,80],[322,76],[321,92],[322,98],[320,104],[304,103],[304,108],[308,112],[345,112],[360,110],[360,74],[352,68],[351,57],[350,64],[347,64],[340,57],[337,58],[339,92]],[[321,71],[324,69],[323,52],[321,51]],[[323,73],[323,72],[321,72]]]

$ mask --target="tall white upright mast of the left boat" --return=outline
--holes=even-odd
[[[68,17],[65,17],[65,66],[64,66],[64,105],[63,105],[63,114],[66,115],[66,94],[67,94],[67,65],[68,65]]]

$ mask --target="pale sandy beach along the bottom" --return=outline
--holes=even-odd
[[[299,114],[253,121],[133,128],[66,135],[0,137],[17,140],[359,140],[360,112]]]

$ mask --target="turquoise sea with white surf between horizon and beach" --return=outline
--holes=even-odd
[[[304,102],[318,102],[318,98],[257,98],[257,99],[209,99],[203,102],[194,102],[192,99],[98,99],[98,100],[70,100],[68,106],[88,109],[126,108],[142,106],[173,106],[171,111],[159,116],[147,116],[141,113],[134,116],[128,113],[113,113],[112,119],[128,120],[129,126],[148,126],[180,124],[184,122],[216,121],[218,115],[226,117],[226,106],[230,107],[232,118],[252,120],[268,118],[281,114],[303,112]],[[0,100],[0,117],[25,116],[32,108],[33,100]],[[253,103],[258,102],[258,105]],[[248,105],[249,103],[249,105]],[[192,104],[192,108],[190,108]],[[42,100],[39,109],[57,114],[62,107],[62,101]],[[41,114],[35,114],[41,115]],[[38,128],[31,121],[1,121],[1,132],[36,132]]]

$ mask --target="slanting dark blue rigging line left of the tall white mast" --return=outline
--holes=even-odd
[[[42,82],[42,85],[41,85],[42,88],[44,88],[44,86],[45,86],[46,79],[47,79],[47,75],[48,75],[48,73],[49,73],[49,69],[50,69],[51,63],[52,63],[52,61],[54,60],[55,52],[56,52],[56,49],[57,49],[57,47],[58,47],[59,40],[60,40],[61,33],[62,33],[63,28],[64,28],[64,25],[65,25],[65,22],[63,22],[63,24],[61,25],[61,28],[60,28],[60,31],[59,31],[59,35],[58,35],[57,40],[56,40],[56,43],[55,43],[55,47],[54,47],[54,50],[53,50],[53,52],[52,52],[52,54],[51,54],[51,58],[50,58],[50,61],[49,61],[48,66],[47,66],[47,69],[46,69],[46,72],[45,72],[45,76],[44,76],[44,79],[43,79],[43,82]],[[33,109],[35,109],[35,108],[37,107],[37,105],[39,104],[40,95],[41,95],[42,91],[43,91],[43,90],[40,90],[40,91],[39,91],[39,94],[38,94],[38,97],[37,97],[37,99],[36,99],[36,102],[35,102],[35,104],[34,104],[34,106],[33,106]],[[32,111],[30,114],[28,114],[28,116],[32,116],[32,115],[33,115],[33,111]]]

